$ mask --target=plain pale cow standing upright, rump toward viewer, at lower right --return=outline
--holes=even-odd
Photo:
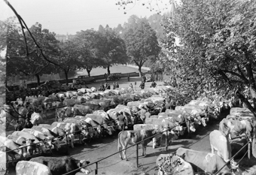
[[[212,154],[214,154],[216,150],[217,154],[226,162],[231,158],[231,146],[228,139],[229,133],[230,129],[225,133],[223,131],[214,130],[209,134]]]

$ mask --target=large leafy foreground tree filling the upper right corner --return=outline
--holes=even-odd
[[[214,84],[215,91],[235,94],[256,116],[256,2],[182,0],[166,20],[167,62],[182,80],[197,89]],[[182,47],[175,44],[179,37]],[[183,74],[183,76],[181,76]],[[248,87],[254,107],[246,98]]]

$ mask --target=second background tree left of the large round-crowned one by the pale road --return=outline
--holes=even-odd
[[[81,62],[78,68],[85,68],[90,77],[90,71],[100,65],[101,54],[98,47],[102,42],[101,35],[92,29],[77,32],[74,42],[78,50],[79,62]]]

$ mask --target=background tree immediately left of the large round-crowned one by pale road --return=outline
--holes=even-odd
[[[110,28],[106,28],[105,32],[100,32],[101,42],[98,44],[102,67],[108,69],[115,64],[126,64],[128,56],[126,55],[126,45],[120,35],[117,35]]]

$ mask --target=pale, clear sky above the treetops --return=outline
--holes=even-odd
[[[123,7],[115,5],[117,0],[8,0],[28,27],[38,22],[43,29],[59,35],[75,35],[76,32],[92,28],[98,30],[99,25],[105,27],[108,24],[114,28],[118,24],[123,25],[133,14],[150,17],[156,14],[155,9],[168,11],[166,8],[169,8],[169,0],[132,1],[136,5],[126,6],[123,10]],[[148,2],[151,2],[154,10],[146,7]],[[0,20],[8,17],[14,17],[14,12],[4,0],[0,0]]]

